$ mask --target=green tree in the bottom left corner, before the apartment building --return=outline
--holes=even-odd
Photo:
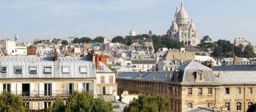
[[[0,95],[0,111],[4,112],[16,112],[16,111],[29,111],[22,105],[22,99],[20,96],[11,94],[10,92],[3,92]]]

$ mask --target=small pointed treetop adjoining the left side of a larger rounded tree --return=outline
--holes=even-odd
[[[48,111],[49,112],[59,112],[59,111],[65,111],[65,104],[63,102],[63,100],[58,97],[56,98],[56,100],[54,101],[54,104],[51,105],[49,108],[48,108]]]

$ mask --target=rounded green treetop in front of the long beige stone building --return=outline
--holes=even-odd
[[[169,103],[161,96],[141,95],[138,99],[134,99],[128,106],[124,108],[124,112],[168,112],[170,110]]]

